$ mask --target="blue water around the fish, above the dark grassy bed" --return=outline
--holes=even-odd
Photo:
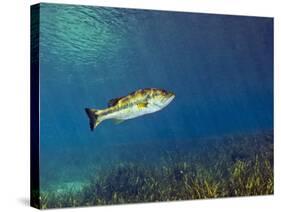
[[[41,4],[40,21],[43,188],[83,181],[120,160],[120,146],[273,128],[271,18]],[[149,87],[176,98],[90,131],[85,107]]]

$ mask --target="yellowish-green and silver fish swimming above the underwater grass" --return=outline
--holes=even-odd
[[[150,113],[162,110],[175,98],[175,94],[164,89],[144,88],[126,96],[109,100],[105,109],[85,108],[91,131],[105,120],[112,119],[122,123]]]

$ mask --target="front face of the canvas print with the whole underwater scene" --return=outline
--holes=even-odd
[[[273,194],[273,19],[40,4],[39,208]]]

